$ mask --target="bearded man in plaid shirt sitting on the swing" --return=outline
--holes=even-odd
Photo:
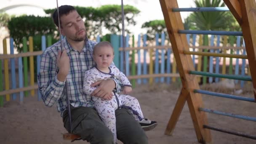
[[[87,39],[83,19],[74,7],[60,6],[59,15],[61,34],[65,36],[62,49],[60,42],[53,44],[43,52],[40,63],[38,85],[44,104],[47,107],[57,104],[67,131],[80,135],[91,144],[113,144],[111,131],[101,121],[93,108],[93,102],[86,100],[88,95],[83,93],[85,71],[95,65],[93,47],[96,42]],[[59,27],[56,10],[53,21]],[[113,89],[120,91],[120,85],[114,79],[98,81],[92,86],[96,85],[98,88],[92,95],[103,99],[111,99]],[[69,126],[67,96],[70,101],[72,128]],[[116,110],[116,125],[117,139],[124,144],[148,143],[146,134],[127,109]]]

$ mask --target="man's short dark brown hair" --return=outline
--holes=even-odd
[[[63,15],[69,14],[71,11],[76,11],[76,9],[73,6],[71,6],[71,5],[61,5],[59,7],[59,17],[61,17]],[[58,10],[57,10],[57,8],[53,12],[53,22],[54,22],[54,24],[57,27],[59,27]],[[60,21],[60,24],[61,24],[61,21]]]

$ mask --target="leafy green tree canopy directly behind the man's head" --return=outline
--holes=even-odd
[[[85,19],[85,27],[87,28],[88,35],[101,35],[102,29],[107,29],[112,34],[122,33],[121,5],[102,5],[99,8],[75,6],[75,8],[80,16]],[[127,27],[136,24],[134,17],[140,11],[131,5],[124,5],[123,8],[125,31],[130,33]],[[54,9],[47,9],[45,13],[52,14],[53,11]]]

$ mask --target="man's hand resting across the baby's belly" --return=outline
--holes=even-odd
[[[112,91],[115,88],[114,80],[99,80],[91,84],[92,87],[97,85],[98,87],[93,91],[93,93],[91,93],[91,96],[96,96],[105,100],[111,100],[113,96]]]

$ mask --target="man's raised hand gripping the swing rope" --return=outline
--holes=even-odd
[[[66,50],[64,50],[62,53],[61,51],[58,51],[57,66],[59,68],[57,79],[64,82],[70,69],[69,57],[67,56]]]

